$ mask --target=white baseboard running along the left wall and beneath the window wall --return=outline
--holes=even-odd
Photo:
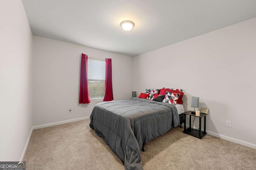
[[[77,119],[70,119],[70,120],[65,120],[65,121],[58,121],[58,122],[48,123],[48,124],[44,124],[44,125],[33,126],[31,128],[31,131],[30,131],[29,135],[28,135],[28,139],[27,139],[26,145],[24,147],[24,150],[22,152],[22,155],[20,157],[20,161],[22,161],[24,156],[25,156],[25,153],[27,151],[28,144],[29,144],[29,141],[30,141],[30,137],[31,137],[32,132],[33,132],[34,129],[40,129],[40,128],[50,127],[50,126],[55,126],[55,125],[62,125],[62,124],[65,124],[65,123],[71,123],[71,122],[74,122],[74,121],[80,121],[80,120],[86,120],[86,119],[90,119],[90,116],[81,117],[81,118],[77,118]]]

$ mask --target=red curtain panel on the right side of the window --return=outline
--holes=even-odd
[[[111,101],[113,98],[112,90],[112,62],[111,59],[106,59],[106,72],[105,72],[105,96],[103,101]]]

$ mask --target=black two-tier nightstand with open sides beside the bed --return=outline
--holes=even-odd
[[[189,128],[186,129],[186,115],[189,115]],[[184,113],[184,133],[188,134],[188,135],[192,135],[194,137],[197,137],[199,139],[202,139],[204,137],[204,135],[206,135],[206,115],[204,113],[200,113],[199,116],[196,116],[196,113],[193,113],[191,111],[186,111]],[[199,117],[199,130],[196,129],[192,129],[191,128],[191,116],[194,117]],[[204,117],[204,132],[202,132],[202,117]]]

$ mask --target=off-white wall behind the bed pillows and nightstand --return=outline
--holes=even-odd
[[[210,134],[256,148],[255,30],[256,18],[138,55],[132,90],[182,88],[186,110],[192,109],[191,96],[209,108]]]

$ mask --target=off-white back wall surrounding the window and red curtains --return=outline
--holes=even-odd
[[[95,104],[78,104],[81,53],[112,59],[114,100],[132,97],[132,57],[33,36],[33,123],[43,125],[90,116]],[[68,108],[72,107],[72,113]]]

